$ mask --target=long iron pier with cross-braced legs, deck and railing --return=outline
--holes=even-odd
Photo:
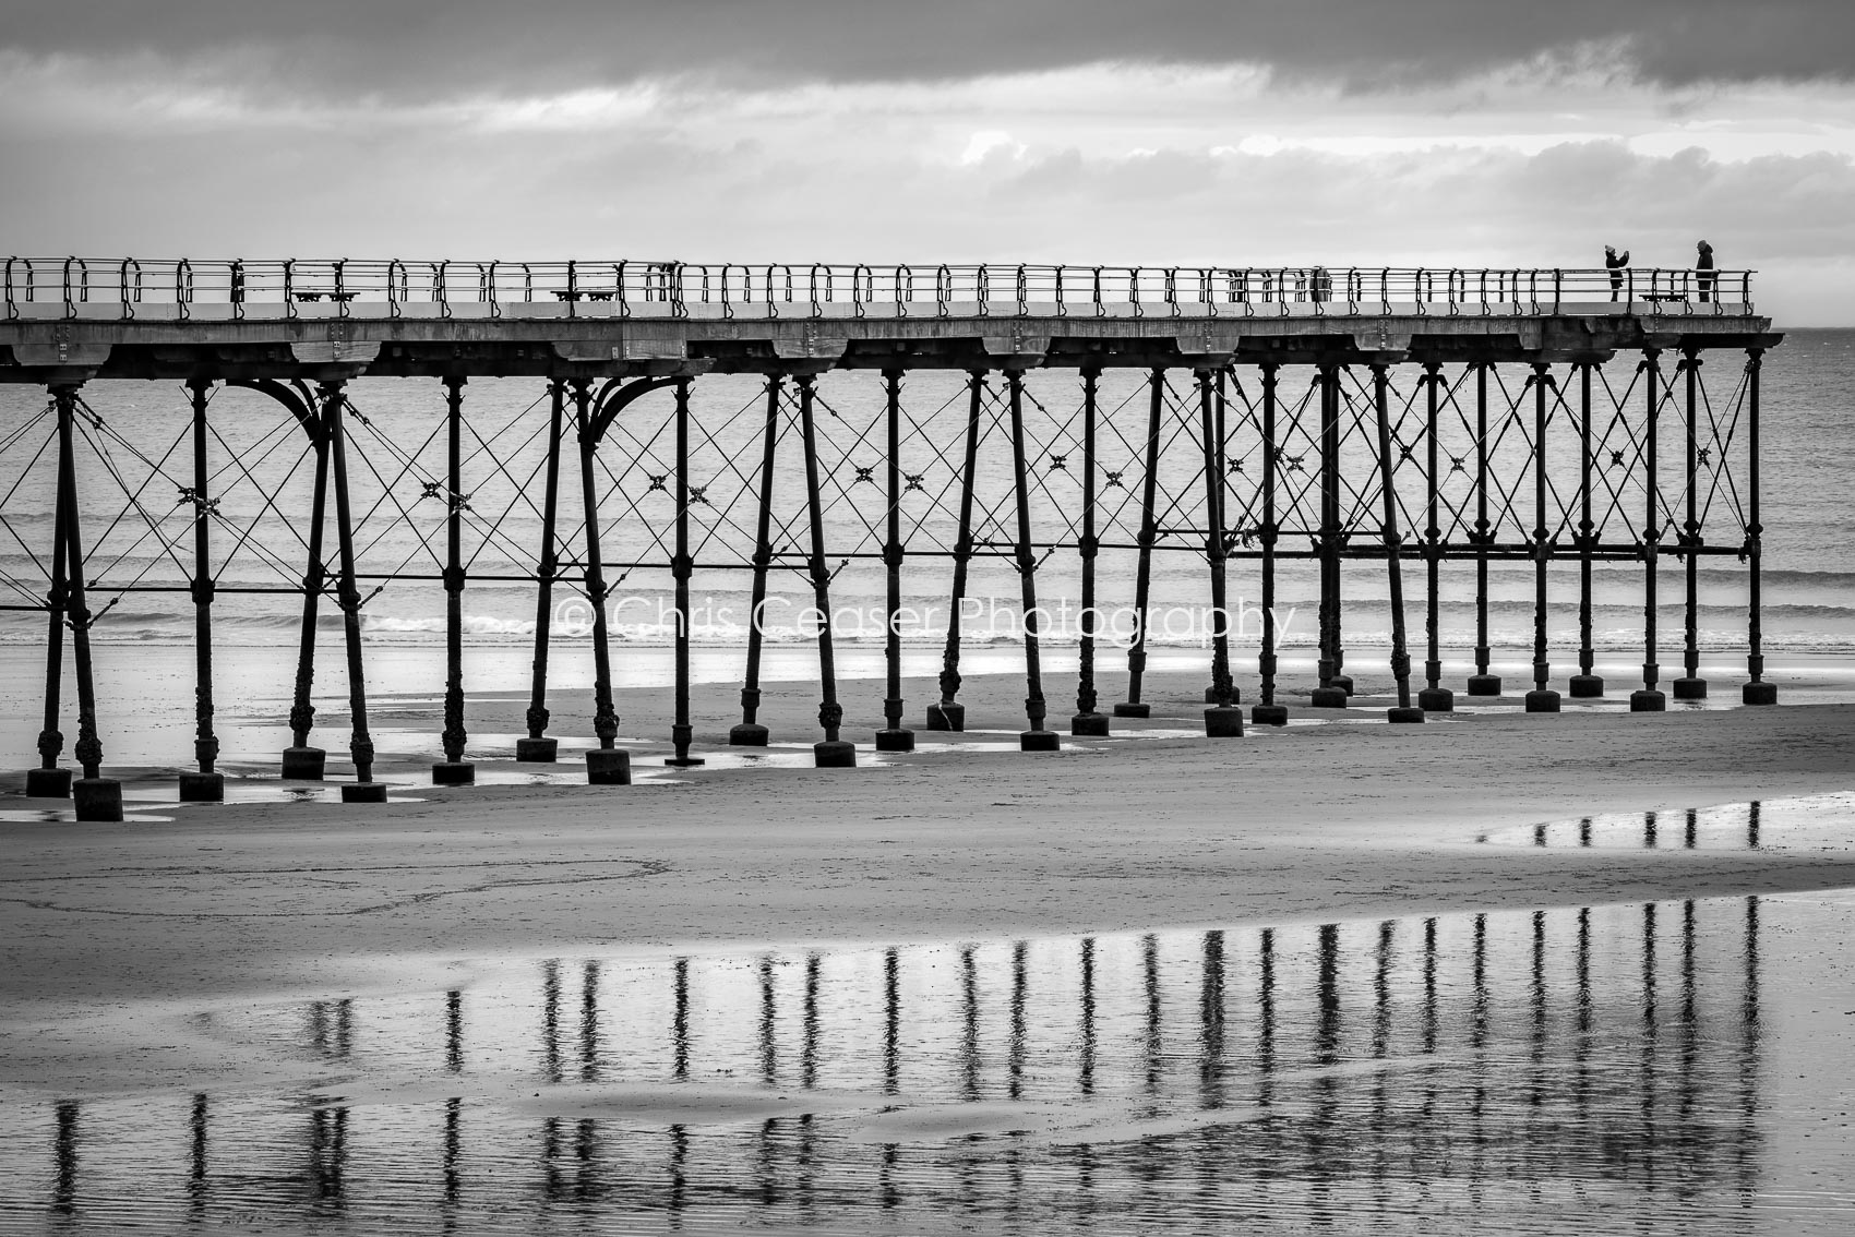
[[[853,558],[887,573],[881,751],[907,751],[915,734],[902,697],[903,573],[946,582],[940,695],[926,725],[963,729],[959,603],[979,558],[1004,558],[1020,579],[1026,751],[1061,742],[1041,673],[1039,573],[1052,556],[1076,556],[1081,582],[1070,734],[1146,716],[1146,627],[1124,653],[1124,699],[1107,703],[1096,675],[1120,653],[1104,647],[1100,612],[1132,592],[1146,616],[1161,556],[1202,571],[1217,616],[1209,736],[1287,720],[1274,595],[1278,567],[1295,564],[1319,579],[1311,708],[1345,708],[1352,694],[1341,584],[1360,573],[1376,575],[1389,599],[1391,721],[1454,705],[1438,614],[1441,580],[1460,573],[1473,573],[1477,599],[1475,673],[1462,688],[1499,695],[1488,571],[1517,560],[1534,579],[1525,708],[1560,707],[1547,606],[1564,575],[1551,567],[1575,564],[1577,673],[1564,688],[1606,692],[1593,671],[1593,588],[1599,575],[1631,580],[1644,666],[1629,701],[1660,710],[1664,558],[1684,569],[1671,694],[1708,690],[1701,564],[1740,564],[1742,694],[1770,705],[1759,371],[1781,336],[1755,312],[1751,282],[1749,271],[1682,269],[13,258],[0,382],[46,391],[37,414],[0,427],[0,521],[17,551],[9,562],[26,564],[6,575],[4,605],[41,612],[46,632],[45,727],[28,790],[76,794],[83,816],[121,812],[119,786],[102,775],[91,631],[128,595],[182,592],[197,632],[198,729],[197,772],[180,790],[223,796],[215,601],[271,592],[301,625],[282,772],[325,772],[312,701],[326,608],[339,614],[347,655],[356,779],[343,797],[384,797],[373,781],[364,612],[388,582],[445,597],[445,760],[434,779],[469,783],[464,595],[492,579],[473,571],[492,547],[493,580],[532,584],[536,597],[519,760],[558,755],[545,703],[551,614],[562,595],[588,603],[594,783],[631,777],[616,746],[608,603],[616,580],[640,567],[668,569],[675,582],[679,764],[701,760],[688,714],[692,582],[731,573],[761,605],[774,571],[800,571],[820,616],[816,762],[855,764],[837,697],[831,592],[833,562]],[[933,386],[924,371],[942,371],[926,402],[909,391]],[[749,375],[755,397],[705,399],[716,375]],[[434,384],[417,441],[369,419],[354,386],[364,376]],[[516,415],[473,415],[467,386],[486,376],[532,380],[536,399]],[[111,378],[178,384],[184,395],[169,417],[124,419],[100,395],[122,388],[93,386]],[[1106,399],[1109,380],[1135,397]],[[531,543],[510,536],[518,510],[538,523]],[[833,543],[846,527],[851,543]],[[423,556],[380,553],[401,542]],[[1132,555],[1132,580],[1098,575],[1107,551]],[[156,560],[174,571],[150,571]],[[143,566],[124,575],[121,564]],[[239,564],[275,582],[252,584]],[[1243,675],[1248,714],[1230,657],[1235,571],[1261,597],[1260,655],[1254,677]],[[98,597],[109,601],[96,606]],[[59,764],[67,640],[74,784]],[[764,746],[757,623],[748,642],[731,742]]]

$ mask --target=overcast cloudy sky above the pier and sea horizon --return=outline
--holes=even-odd
[[[0,249],[1759,271],[1855,325],[1849,0],[61,0]]]

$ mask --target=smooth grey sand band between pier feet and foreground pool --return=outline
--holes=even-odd
[[[1061,701],[1067,684],[1050,686]],[[909,682],[913,701],[929,690]],[[1200,677],[1169,673],[1150,682],[1154,718],[1117,727],[1126,736],[1065,736],[1061,753],[1030,755],[1015,749],[1020,690],[1004,675],[968,679],[965,736],[922,731],[924,751],[853,772],[672,775],[666,744],[638,740],[640,773],[657,772],[629,788],[571,784],[571,742],[555,770],[566,784],[419,784],[436,701],[404,701],[382,708],[378,742],[382,770],[408,783],[395,794],[417,801],[132,801],[167,820],[0,822],[7,1007],[20,1018],[72,1001],[349,990],[406,955],[1280,924],[1855,885],[1855,855],[1836,851],[1475,844],[1593,812],[1855,788],[1848,705],[1631,716],[1616,701],[1567,701],[1560,716],[1504,707],[1391,727],[1362,699],[1345,720],[1209,742],[1191,736]],[[662,695],[629,695],[625,734],[662,734],[651,716]],[[521,707],[473,697],[486,777]],[[794,764],[816,738],[814,707],[803,684],[768,692],[762,720],[775,744],[800,744],[785,749]],[[697,749],[716,751],[735,716],[735,692],[697,692]],[[339,718],[321,721],[334,777]],[[147,786],[173,794],[165,779]],[[134,781],[128,794],[141,794]],[[20,1068],[35,1037],[9,1039],[13,1083],[39,1081]],[[104,1066],[83,1057],[54,1076]]]

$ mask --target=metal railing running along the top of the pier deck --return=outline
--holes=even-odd
[[[6,317],[1358,317],[1749,313],[1684,267],[740,265],[7,258]]]

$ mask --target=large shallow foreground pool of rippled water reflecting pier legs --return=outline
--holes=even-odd
[[[1855,896],[434,968],[0,1094],[0,1230],[1855,1228]],[[273,1072],[273,1078],[278,1074]]]

